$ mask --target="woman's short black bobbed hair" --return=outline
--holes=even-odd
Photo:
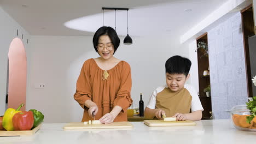
[[[108,37],[111,40],[111,43],[114,46],[114,53],[117,51],[118,46],[120,45],[120,39],[117,35],[117,32],[115,32],[115,29],[112,27],[100,27],[94,34],[94,38],[92,39],[92,42],[94,43],[94,49],[96,52],[97,50],[97,45],[98,45],[98,39],[101,37],[101,35],[108,35]]]

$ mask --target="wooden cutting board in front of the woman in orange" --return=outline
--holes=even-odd
[[[130,122],[113,122],[109,124],[84,124],[84,123],[67,123],[63,129],[118,129],[132,128]]]

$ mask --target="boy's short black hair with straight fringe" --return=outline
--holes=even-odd
[[[165,73],[184,74],[188,76],[191,67],[191,61],[181,56],[173,56],[165,62]]]

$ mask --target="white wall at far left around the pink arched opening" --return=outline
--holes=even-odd
[[[21,39],[21,34],[23,34],[24,36],[24,39],[22,41],[27,52],[29,49],[27,39],[30,39],[30,34],[28,34],[25,31],[25,29],[19,25],[19,23],[17,23],[7,13],[5,13],[5,11],[0,6],[0,116],[3,115],[5,111],[5,94],[7,91],[7,63],[9,45],[11,41],[15,37],[17,37],[17,29],[19,29],[18,37]],[[27,55],[29,55],[28,52]],[[27,58],[29,59],[29,56],[27,56]]]

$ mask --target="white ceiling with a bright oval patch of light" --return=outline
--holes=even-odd
[[[180,37],[228,0],[0,0],[1,7],[31,35],[93,35],[102,7],[129,8],[129,35]],[[104,11],[104,25],[127,34],[127,11]],[[116,19],[116,24],[115,24]],[[79,31],[79,30],[82,31]]]

